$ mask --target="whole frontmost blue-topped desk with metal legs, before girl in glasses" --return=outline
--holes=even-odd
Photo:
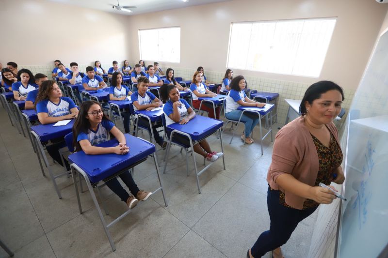
[[[73,176],[74,187],[77,194],[77,201],[78,201],[78,207],[79,207],[80,213],[82,213],[82,208],[81,208],[80,194],[79,194],[77,182],[76,182],[76,172],[81,174],[86,181],[86,185],[88,186],[90,195],[92,196],[92,199],[96,206],[102,226],[104,227],[105,234],[108,237],[109,243],[111,244],[113,251],[116,250],[116,247],[113,243],[112,236],[108,231],[108,229],[111,226],[113,226],[115,223],[120,221],[122,218],[124,218],[126,215],[128,215],[131,212],[131,210],[129,209],[128,211],[124,212],[123,214],[121,214],[119,217],[117,217],[111,223],[108,224],[102,215],[101,209],[98,205],[96,195],[94,194],[94,190],[93,190],[94,185],[97,185],[97,183],[101,181],[110,180],[113,177],[116,177],[128,171],[129,168],[135,167],[138,164],[144,162],[147,159],[148,155],[153,154],[160,187],[155,189],[152,192],[152,194],[154,195],[159,190],[161,190],[163,199],[164,199],[164,204],[165,206],[168,205],[167,199],[164,196],[162,178],[159,173],[158,162],[155,158],[156,156],[155,145],[141,138],[133,137],[129,134],[125,134],[124,136],[126,138],[127,146],[129,147],[129,153],[125,155],[117,155],[114,153],[100,154],[100,155],[87,155],[85,154],[85,152],[79,151],[69,156],[69,160],[72,162],[70,167],[71,167],[71,173]],[[98,144],[97,146],[113,147],[113,146],[117,146],[117,144],[118,144],[118,141],[116,139],[112,139],[112,140],[103,142],[101,144]]]

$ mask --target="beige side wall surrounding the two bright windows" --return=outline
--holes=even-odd
[[[231,22],[337,16],[322,74],[345,89],[355,90],[387,12],[373,0],[234,0],[129,17],[132,61],[138,61],[138,29],[181,27],[179,66],[206,71],[226,70]],[[150,61],[148,61],[149,63]],[[163,64],[176,66],[176,64]],[[239,71],[235,74],[312,83],[317,78]]]

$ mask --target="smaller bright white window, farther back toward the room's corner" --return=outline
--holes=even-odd
[[[180,61],[180,28],[139,30],[140,59]]]

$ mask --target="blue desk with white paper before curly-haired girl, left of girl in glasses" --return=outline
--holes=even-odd
[[[70,121],[68,124],[63,126],[53,126],[55,123],[49,124],[39,124],[31,126],[31,137],[32,137],[32,147],[36,150],[36,155],[38,157],[40,168],[42,169],[42,174],[45,177],[45,171],[42,166],[42,161],[40,156],[42,156],[43,161],[45,162],[45,166],[49,170],[49,174],[54,184],[55,191],[58,194],[58,197],[61,199],[61,192],[59,191],[58,185],[55,182],[55,179],[67,174],[67,171],[61,173],[59,175],[54,176],[49,165],[49,161],[47,159],[45,150],[42,146],[42,141],[49,141],[58,137],[65,137],[68,133],[72,131],[74,119]],[[65,165],[65,164],[64,164]]]

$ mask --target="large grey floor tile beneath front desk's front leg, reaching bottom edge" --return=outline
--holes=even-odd
[[[124,212],[117,198],[108,202],[113,216]],[[189,231],[183,223],[149,199],[110,228],[116,251],[113,257],[162,257]],[[57,257],[106,257],[112,249],[96,209],[84,212],[48,234]],[[152,247],[152,248],[151,248]]]

